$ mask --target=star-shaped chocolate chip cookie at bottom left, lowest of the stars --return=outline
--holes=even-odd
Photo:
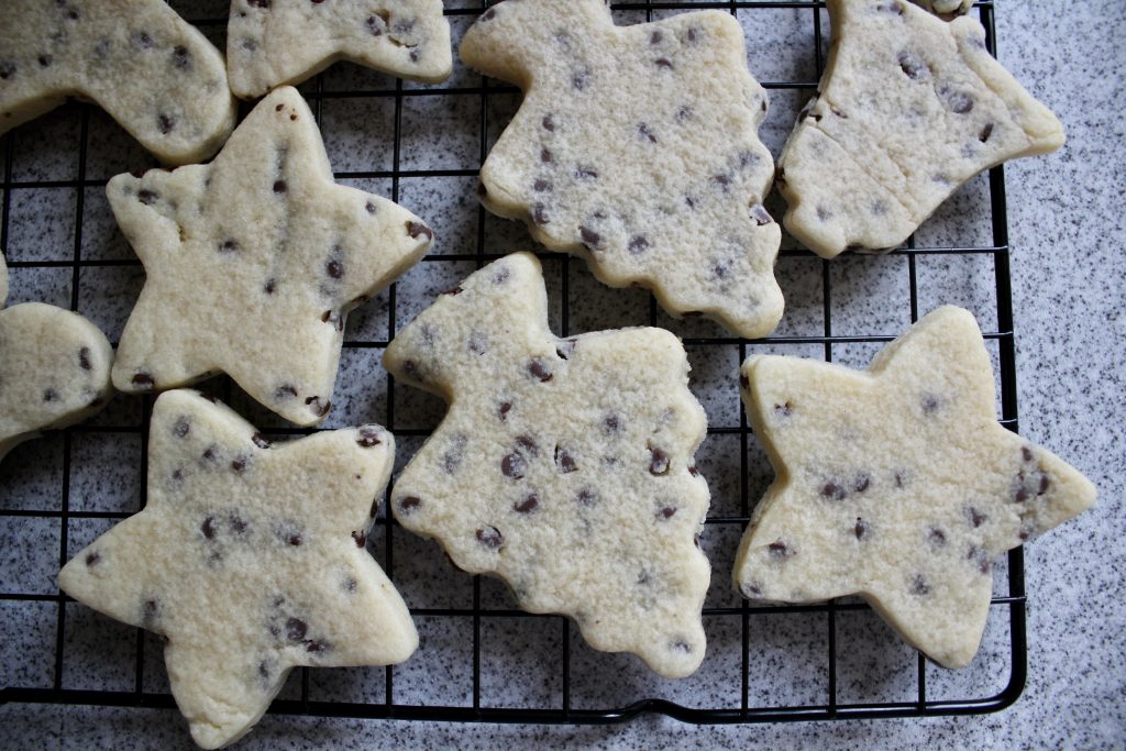
[[[59,585],[163,635],[191,736],[225,745],[258,722],[291,668],[391,664],[418,647],[406,606],[365,548],[393,458],[378,426],[271,446],[195,392],[162,394],[148,503],[68,563]]]

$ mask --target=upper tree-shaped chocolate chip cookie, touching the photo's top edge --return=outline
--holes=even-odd
[[[767,95],[730,14],[618,28],[602,0],[510,0],[477,19],[461,55],[525,92],[481,168],[489,211],[610,286],[652,289],[672,315],[743,337],[777,325]]]

